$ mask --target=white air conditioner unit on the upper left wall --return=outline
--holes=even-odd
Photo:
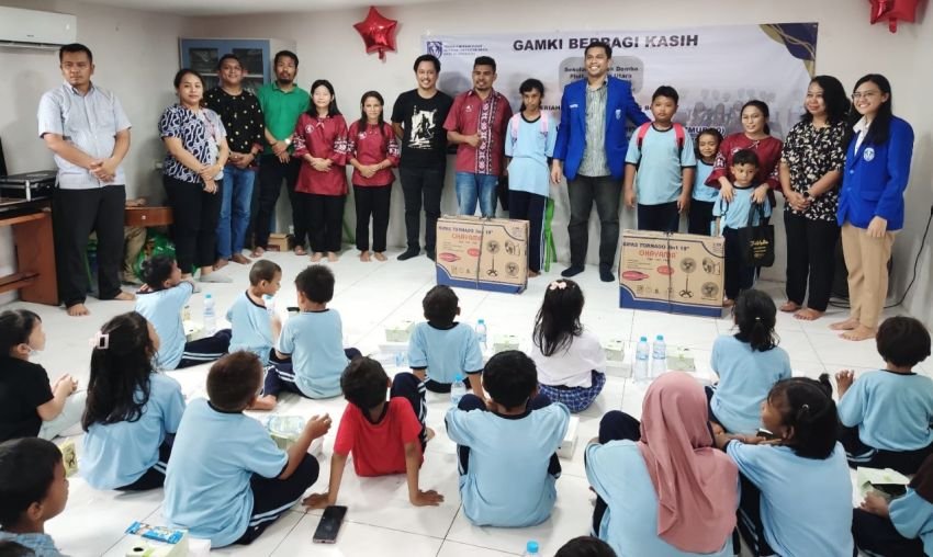
[[[0,7],[0,46],[57,48],[78,37],[78,19],[67,13]]]

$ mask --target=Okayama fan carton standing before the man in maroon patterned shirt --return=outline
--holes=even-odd
[[[528,285],[528,221],[439,218],[437,283],[510,294],[524,292]]]

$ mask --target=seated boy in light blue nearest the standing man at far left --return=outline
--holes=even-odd
[[[213,362],[227,353],[231,330],[187,342],[181,310],[194,293],[194,280],[181,278],[181,270],[168,255],[156,255],[143,262],[143,281],[136,296],[136,312],[153,323],[161,345],[156,365],[161,371],[180,370]]]

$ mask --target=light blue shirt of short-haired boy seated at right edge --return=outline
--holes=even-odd
[[[839,420],[858,427],[858,439],[886,451],[915,451],[933,443],[933,379],[917,374],[868,372],[839,401]]]

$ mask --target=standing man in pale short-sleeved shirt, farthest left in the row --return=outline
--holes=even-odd
[[[116,95],[91,83],[94,64],[87,46],[63,46],[58,61],[65,83],[42,95],[38,136],[58,167],[52,200],[58,296],[69,316],[86,316],[85,254],[92,230],[98,235],[98,296],[134,298],[120,289],[126,203],[121,163],[130,150],[130,121]]]

